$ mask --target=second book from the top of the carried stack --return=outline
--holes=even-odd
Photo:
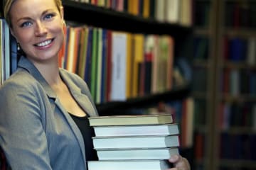
[[[179,133],[177,123],[169,123],[164,125],[95,126],[94,130],[97,137],[132,135],[176,135]]]

